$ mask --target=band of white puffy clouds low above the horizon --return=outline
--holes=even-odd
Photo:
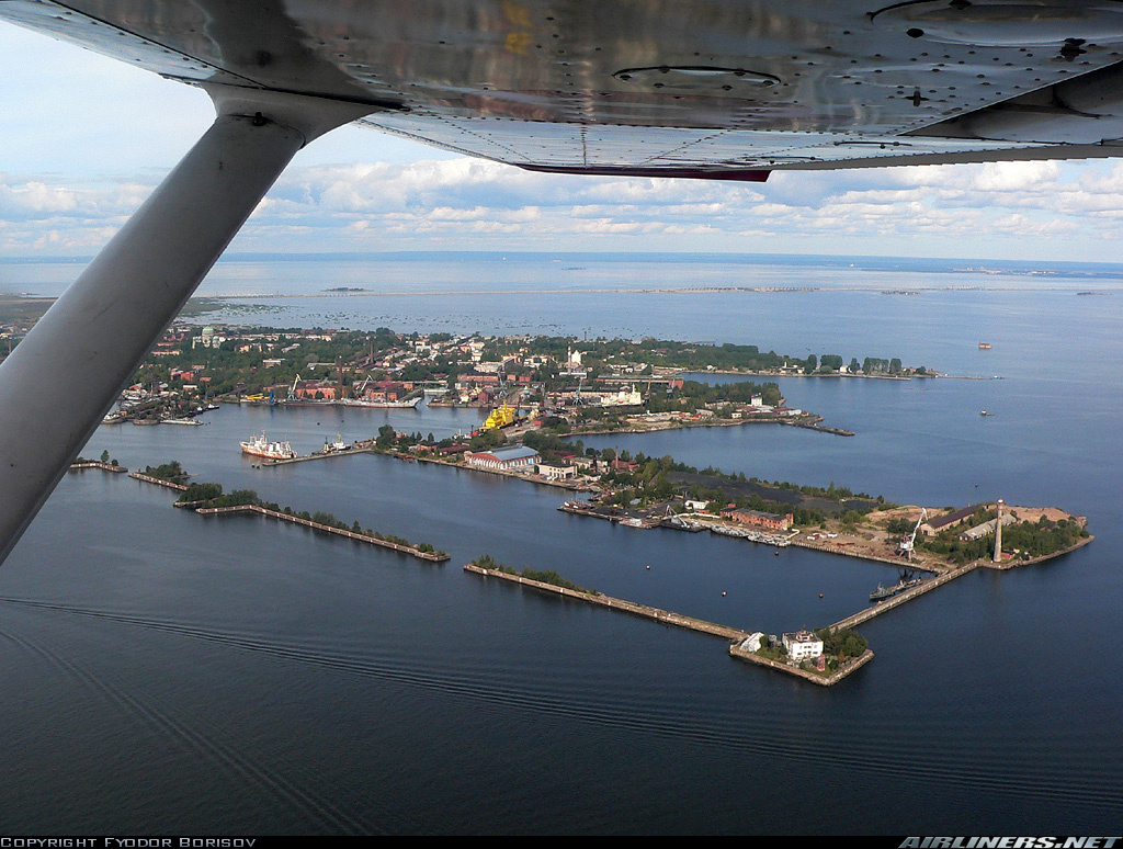
[[[4,252],[92,253],[156,182],[0,174]],[[550,175],[460,157],[294,166],[235,249],[742,250],[752,237],[758,249],[892,254],[907,253],[911,237],[1070,245],[1115,234],[1121,219],[1119,164],[786,172],[761,185]]]

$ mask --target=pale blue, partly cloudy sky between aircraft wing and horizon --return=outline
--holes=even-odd
[[[0,22],[0,258],[92,256],[213,119],[208,97]],[[1123,262],[1123,162],[535,174],[343,127],[231,252],[701,252]]]

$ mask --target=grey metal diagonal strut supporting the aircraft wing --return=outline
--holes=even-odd
[[[204,88],[214,124],[0,365],[0,562],[293,155],[380,111]]]

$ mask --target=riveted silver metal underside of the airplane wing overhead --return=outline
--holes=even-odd
[[[0,18],[547,171],[1123,154],[1117,0],[0,0]]]

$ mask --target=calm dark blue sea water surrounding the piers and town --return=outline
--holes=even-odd
[[[258,265],[244,270],[250,282],[271,280],[275,268]],[[590,289],[640,279],[622,263],[586,266]],[[448,291],[495,287],[494,274],[448,268]],[[328,285],[401,291],[439,271],[386,282],[382,266],[353,268]],[[691,272],[791,286],[848,277],[844,266],[674,270]],[[938,276],[865,274],[893,289]],[[281,276],[274,289],[305,291]],[[124,476],[69,475],[0,569],[3,831],[1117,831],[1121,296],[517,293],[401,295],[393,309],[336,299],[339,326],[409,312],[422,329],[618,327],[1001,375],[782,382],[791,404],[857,431],[850,439],[756,426],[585,442],[902,502],[1054,503],[1086,514],[1097,539],[1048,564],[974,573],[868,623],[874,663],[822,691],[739,664],[720,640],[459,567],[490,553],[766,632],[852,612],[892,579],[887,567],[583,521],[557,512],[557,490],[462,471],[372,456],[254,468],[238,450],[265,430],[307,453],[387,421],[439,437],[478,423],[476,411],[227,407],[202,428],[102,428],[86,455],[108,449],[129,467],[179,459],[199,480],[428,540],[453,559],[207,520]],[[457,314],[458,298],[475,312]],[[281,323],[316,312],[310,300],[292,299]],[[994,349],[978,352],[979,339]]]

